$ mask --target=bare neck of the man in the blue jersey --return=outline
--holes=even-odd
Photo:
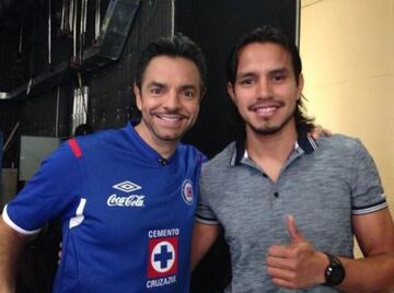
[[[147,128],[143,122],[138,124],[135,127],[135,130],[140,136],[140,138],[148,143],[154,151],[157,151],[160,156],[169,159],[174,152],[179,141],[166,141],[155,138],[151,130]]]

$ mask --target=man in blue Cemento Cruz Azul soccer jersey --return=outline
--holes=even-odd
[[[139,122],[65,142],[0,221],[0,292],[15,290],[23,244],[60,219],[54,292],[188,292],[193,219],[205,156],[179,143],[205,91],[199,47],[176,35],[137,66]]]

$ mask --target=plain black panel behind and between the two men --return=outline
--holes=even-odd
[[[256,26],[281,27],[291,39],[298,30],[298,1],[176,1],[176,28],[200,44],[208,61],[208,91],[197,124],[185,141],[209,157],[236,138],[240,120],[227,94],[225,59],[235,40]],[[262,251],[263,254],[263,251]],[[229,249],[221,236],[193,273],[192,293],[220,292],[231,280]]]

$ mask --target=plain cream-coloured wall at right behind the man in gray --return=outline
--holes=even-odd
[[[394,215],[394,0],[302,0],[300,49],[309,113],[363,141]]]

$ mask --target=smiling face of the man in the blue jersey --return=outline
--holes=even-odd
[[[182,57],[154,57],[143,73],[141,87],[135,85],[135,94],[142,113],[136,127],[140,137],[155,150],[175,148],[198,116],[198,69]]]

